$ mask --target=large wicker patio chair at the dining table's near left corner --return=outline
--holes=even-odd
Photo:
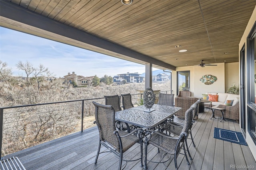
[[[108,152],[113,152],[119,157],[120,170],[122,167],[123,153],[133,146],[136,142],[140,143],[140,166],[143,166],[142,162],[142,138],[140,138],[141,128],[134,130],[131,133],[123,130],[116,130],[115,127],[115,110],[111,105],[101,105],[96,102],[92,102],[95,106],[95,121],[99,130],[99,146],[98,152],[95,158],[95,164],[97,163],[98,156],[100,154],[100,146],[103,145],[108,148]],[[133,135],[137,134],[137,135]],[[137,137],[138,136],[138,137]],[[103,152],[101,152],[103,153]],[[125,160],[125,159],[124,159]],[[126,160],[125,160],[126,161]],[[135,161],[135,160],[130,160]]]

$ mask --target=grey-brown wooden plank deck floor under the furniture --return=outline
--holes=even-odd
[[[180,170],[228,170],[230,165],[254,166],[256,162],[248,146],[239,145],[223,140],[215,139],[214,127],[240,131],[236,121],[227,120],[220,122],[220,119],[211,120],[211,111],[206,109],[204,113],[199,113],[198,120],[195,121],[192,129],[196,147],[191,144],[190,152],[193,160],[190,165],[186,164],[186,158],[180,154],[177,162]],[[175,119],[182,122],[182,119]],[[100,154],[98,163],[94,164],[95,155],[98,148],[98,129],[89,128],[83,133],[75,133],[50,142],[45,142],[16,152],[11,155],[18,156],[27,170],[113,170],[118,168],[118,158],[112,153]],[[102,148],[104,149],[104,148]],[[182,151],[183,152],[183,151]],[[148,146],[148,160],[158,161],[162,157],[162,152],[157,154],[157,149],[152,145]],[[140,157],[139,144],[125,152],[125,158]],[[175,169],[173,156],[166,162],[169,169]],[[126,170],[142,170],[139,161],[128,162]],[[163,164],[148,162],[148,170],[164,170]],[[246,169],[246,168],[241,168]]]

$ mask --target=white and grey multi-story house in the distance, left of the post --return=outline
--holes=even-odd
[[[142,83],[143,77],[140,76],[138,72],[136,73],[124,73],[124,74],[118,74],[113,77],[114,82],[120,82],[123,80],[126,80],[129,83]]]

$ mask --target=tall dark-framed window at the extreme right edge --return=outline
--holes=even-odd
[[[256,144],[256,22],[247,38],[247,122],[248,133]]]

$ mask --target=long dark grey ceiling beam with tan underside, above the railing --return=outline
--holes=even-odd
[[[0,11],[0,26],[128,61],[141,64],[152,63],[156,67],[176,70],[173,65],[36,14],[12,2],[1,1]]]

